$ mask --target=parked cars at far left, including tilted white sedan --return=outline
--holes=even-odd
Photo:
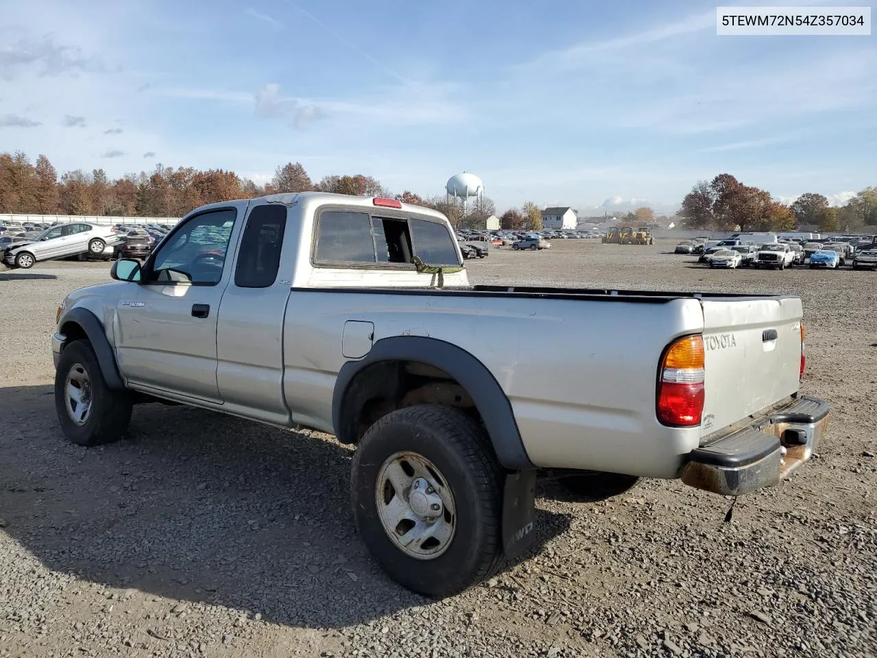
[[[56,222],[38,231],[18,231],[35,225],[6,226],[0,235],[0,261],[8,268],[32,268],[39,261],[76,258],[144,259],[167,234],[164,225],[98,225]],[[9,229],[12,230],[9,230]]]

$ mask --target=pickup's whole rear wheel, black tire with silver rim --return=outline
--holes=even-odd
[[[391,578],[429,597],[488,578],[502,557],[503,469],[464,411],[418,404],[391,411],[353,456],[353,517]]]

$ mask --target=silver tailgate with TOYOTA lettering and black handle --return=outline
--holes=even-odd
[[[701,304],[706,436],[798,390],[802,305],[797,297]]]

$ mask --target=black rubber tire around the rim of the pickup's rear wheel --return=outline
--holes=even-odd
[[[454,508],[448,517],[446,507],[437,521],[448,523],[449,518],[453,519],[450,539],[439,554],[420,558],[406,553],[396,540],[390,539],[391,532],[394,537],[399,533],[404,536],[416,530],[417,525],[400,531],[403,519],[395,532],[385,529],[378,509],[388,493],[389,501],[397,496],[393,486],[388,490],[381,485],[378,490],[379,476],[386,464],[410,455],[431,462],[439,471],[446,490],[452,494]],[[414,492],[406,487],[401,487],[403,496]],[[353,456],[351,502],[360,537],[374,561],[393,580],[428,597],[457,594],[496,571],[503,554],[502,498],[503,468],[496,461],[488,437],[480,423],[453,407],[417,404],[391,411],[369,427]],[[410,516],[416,518],[405,500],[403,504]],[[389,504],[384,509],[389,510]],[[422,522],[423,519],[418,521]],[[415,550],[422,550],[428,541],[411,544],[419,544]]]

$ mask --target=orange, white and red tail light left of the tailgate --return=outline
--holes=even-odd
[[[672,427],[695,427],[703,413],[703,338],[685,336],[667,347],[660,364],[658,420]]]

